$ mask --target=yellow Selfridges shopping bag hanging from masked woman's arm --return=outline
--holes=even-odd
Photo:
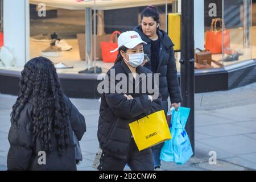
[[[164,111],[157,111],[129,124],[139,151],[171,139]]]

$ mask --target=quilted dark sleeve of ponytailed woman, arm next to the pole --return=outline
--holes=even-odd
[[[170,94],[171,103],[182,102],[182,96],[179,87],[179,80],[177,77],[177,68],[175,64],[174,48],[171,47],[170,50],[170,60],[167,65],[167,82],[168,91]]]

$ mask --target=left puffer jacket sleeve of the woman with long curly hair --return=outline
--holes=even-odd
[[[28,125],[24,124],[30,121],[29,114],[26,113],[26,119],[20,117],[15,124],[12,123],[8,140],[10,143],[9,152],[7,155],[8,170],[27,170],[30,164],[32,155],[32,131]]]

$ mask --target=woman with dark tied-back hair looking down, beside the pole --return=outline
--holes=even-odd
[[[160,30],[160,18],[155,6],[149,5],[141,13],[141,25],[134,28],[142,40],[146,42],[143,45],[144,53],[150,58],[150,61],[144,64],[144,67],[150,69],[153,73],[159,74],[159,92],[162,94],[162,107],[165,113],[168,112],[168,97],[170,96],[171,107],[177,109],[182,102],[179,81],[177,78],[177,69],[174,57],[174,44],[168,34]],[[163,146],[159,144],[152,147],[155,170],[160,169],[160,150]]]

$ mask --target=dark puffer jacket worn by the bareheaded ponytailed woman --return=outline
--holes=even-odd
[[[151,58],[150,38],[143,34],[141,26],[135,27],[134,31],[137,31],[142,40],[147,43],[147,45],[143,45],[144,53]],[[158,29],[157,33],[160,39],[159,63],[156,71],[156,73],[159,73],[159,92],[163,101],[170,96],[171,103],[182,102],[174,57],[174,44],[166,32]],[[144,67],[152,70],[151,62],[146,63]]]

